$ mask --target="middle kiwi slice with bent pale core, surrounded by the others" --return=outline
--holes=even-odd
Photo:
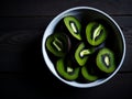
[[[75,59],[79,66],[84,66],[88,59],[88,55],[94,53],[94,48],[86,48],[84,43],[80,43],[75,52]]]

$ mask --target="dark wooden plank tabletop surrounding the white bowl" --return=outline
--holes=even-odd
[[[78,6],[110,14],[127,41],[121,69],[95,88],[64,85],[51,74],[42,57],[42,36],[48,23],[62,11]],[[132,0],[0,0],[0,99],[132,98],[131,50]]]

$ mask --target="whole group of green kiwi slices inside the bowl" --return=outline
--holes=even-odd
[[[103,23],[86,25],[76,16],[61,20],[46,40],[46,50],[56,72],[66,80],[95,81],[116,70],[114,53],[106,46],[108,30]]]

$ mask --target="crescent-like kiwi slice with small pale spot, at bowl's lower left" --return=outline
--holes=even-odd
[[[79,75],[79,67],[74,67],[70,61],[65,62],[64,58],[57,61],[56,69],[67,80],[75,80]]]

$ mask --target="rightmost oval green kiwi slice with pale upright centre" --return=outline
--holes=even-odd
[[[105,47],[99,51],[96,63],[101,72],[112,73],[116,69],[114,55],[109,48]]]

